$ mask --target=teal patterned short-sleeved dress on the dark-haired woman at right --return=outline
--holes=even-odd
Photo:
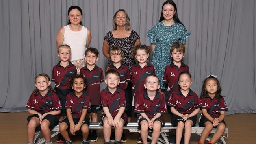
[[[171,64],[170,49],[172,44],[175,42],[186,44],[186,39],[190,34],[178,22],[175,22],[171,26],[165,26],[163,22],[158,22],[148,31],[147,36],[149,41],[156,45],[152,57],[152,64],[155,67],[156,76],[160,79],[161,89],[165,89],[165,85],[163,85],[163,74],[165,72],[165,66]]]

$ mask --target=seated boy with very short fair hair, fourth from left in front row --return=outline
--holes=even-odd
[[[138,129],[141,130],[143,144],[147,144],[148,129],[153,130],[151,144],[156,144],[161,127],[165,124],[163,114],[167,113],[167,107],[165,98],[158,92],[160,82],[157,76],[147,76],[144,87],[146,90],[138,96],[134,112],[139,113]]]

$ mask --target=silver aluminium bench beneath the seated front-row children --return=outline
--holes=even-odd
[[[61,122],[58,123],[57,126],[55,126],[51,132],[51,138],[58,135],[59,134],[59,124]],[[140,130],[137,129],[138,128],[138,123],[137,122],[129,122],[127,124],[127,126],[124,126],[124,129],[128,129],[131,132],[138,132],[140,133]],[[103,129],[103,126],[100,125],[100,122],[90,122],[89,125],[89,129]],[[166,122],[165,126],[161,128],[160,131],[160,135],[162,136],[162,138],[158,138],[158,144],[169,144],[169,140],[167,138],[167,136],[169,136],[169,132],[171,129],[177,129],[177,127],[173,127],[173,125],[170,122]],[[191,133],[196,133],[197,135],[201,136],[202,131],[204,130],[204,127],[199,127],[199,124],[195,124],[195,127],[192,127],[191,129]],[[213,128],[212,131],[210,133],[215,133],[217,131],[216,128]],[[35,138],[34,138],[34,142],[36,144],[43,144],[43,142],[45,142],[45,138],[39,138],[41,134],[41,131],[38,131],[35,133]],[[223,136],[220,138],[220,142],[222,142],[223,144],[226,144],[224,137],[228,137],[228,128],[226,127]],[[148,135],[148,138],[152,140],[152,135]],[[207,138],[208,141],[210,141],[211,137],[209,136]]]

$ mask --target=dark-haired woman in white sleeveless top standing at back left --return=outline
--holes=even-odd
[[[56,35],[57,48],[61,44],[67,44],[71,48],[70,61],[76,66],[79,74],[80,68],[86,65],[84,54],[91,43],[91,31],[82,25],[82,9],[79,6],[71,6],[68,10],[69,22],[67,26],[59,29]]]

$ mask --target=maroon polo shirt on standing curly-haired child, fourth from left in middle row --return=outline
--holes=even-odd
[[[145,79],[151,74],[156,74],[156,72],[150,63],[147,63],[143,68],[138,63],[132,66],[132,106],[135,105],[139,94],[145,92]]]

